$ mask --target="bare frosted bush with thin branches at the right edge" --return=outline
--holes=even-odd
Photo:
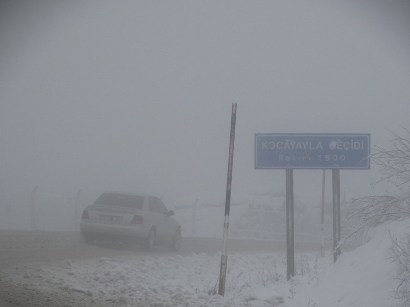
[[[363,239],[367,231],[383,224],[410,217],[410,130],[404,128],[404,137],[393,133],[392,148],[376,147],[371,158],[380,166],[381,179],[374,183],[389,183],[392,192],[387,195],[364,196],[352,202],[351,225],[355,225],[347,237]],[[345,238],[346,239],[346,238]],[[398,265],[396,279],[398,286],[395,297],[410,304],[410,235],[407,240],[398,242],[391,235],[393,261]]]

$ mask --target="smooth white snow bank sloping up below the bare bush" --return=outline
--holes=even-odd
[[[292,300],[289,307],[401,306],[393,298],[398,281],[398,267],[393,261],[391,235],[398,242],[409,233],[410,220],[388,221],[369,233],[369,241],[355,250],[343,253],[328,269],[310,276],[295,276],[290,282]],[[282,291],[289,284],[282,285]],[[277,284],[259,287],[256,292],[266,298]],[[268,292],[265,295],[265,291]]]

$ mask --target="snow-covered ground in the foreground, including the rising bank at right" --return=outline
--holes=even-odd
[[[409,227],[408,219],[386,222],[335,264],[331,254],[297,253],[290,281],[285,251],[229,254],[224,297],[216,294],[220,254],[66,259],[10,268],[1,281],[31,298],[22,306],[400,306],[389,231],[400,241]]]

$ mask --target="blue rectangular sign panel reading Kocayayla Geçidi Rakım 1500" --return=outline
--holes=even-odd
[[[370,169],[370,134],[255,134],[255,169]]]

